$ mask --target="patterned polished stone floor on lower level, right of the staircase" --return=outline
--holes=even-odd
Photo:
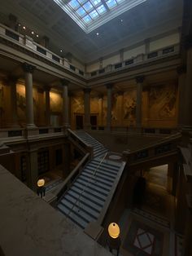
[[[142,206],[124,210],[120,255],[181,256],[181,236],[172,232],[174,197],[167,191],[167,173],[167,165],[147,171]]]

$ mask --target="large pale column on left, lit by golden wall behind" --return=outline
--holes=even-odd
[[[35,67],[31,64],[24,63],[24,77],[25,77],[25,99],[26,99],[26,115],[27,127],[36,127],[34,124],[33,113],[33,70]]]

